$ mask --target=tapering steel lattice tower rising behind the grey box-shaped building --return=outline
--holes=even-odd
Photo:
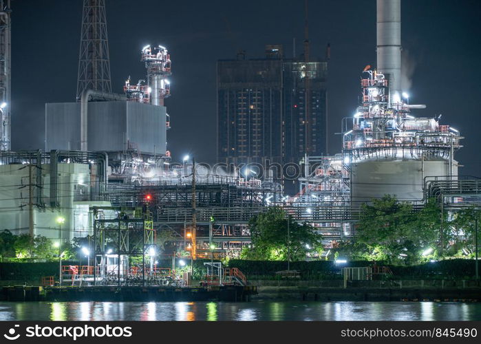
[[[87,89],[111,93],[105,0],[83,0],[77,100]]]

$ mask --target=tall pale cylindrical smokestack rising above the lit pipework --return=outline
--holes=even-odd
[[[400,87],[400,0],[377,0],[377,70],[389,80],[389,92]]]

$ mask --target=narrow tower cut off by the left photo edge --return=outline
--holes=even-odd
[[[10,151],[10,0],[0,0],[0,151]]]

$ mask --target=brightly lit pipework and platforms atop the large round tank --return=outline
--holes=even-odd
[[[437,118],[416,118],[409,96],[389,94],[388,81],[375,70],[365,70],[361,79],[361,105],[352,117],[352,125],[343,122],[343,161],[345,164],[372,158],[422,159],[438,157],[450,160],[460,146],[459,131],[440,125]],[[345,118],[345,120],[348,118]],[[346,166],[349,169],[348,166]],[[451,173],[452,174],[452,173]]]

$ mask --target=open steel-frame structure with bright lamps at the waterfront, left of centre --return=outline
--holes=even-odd
[[[142,207],[92,207],[93,283],[99,286],[181,286],[170,268],[158,266],[156,230]]]

